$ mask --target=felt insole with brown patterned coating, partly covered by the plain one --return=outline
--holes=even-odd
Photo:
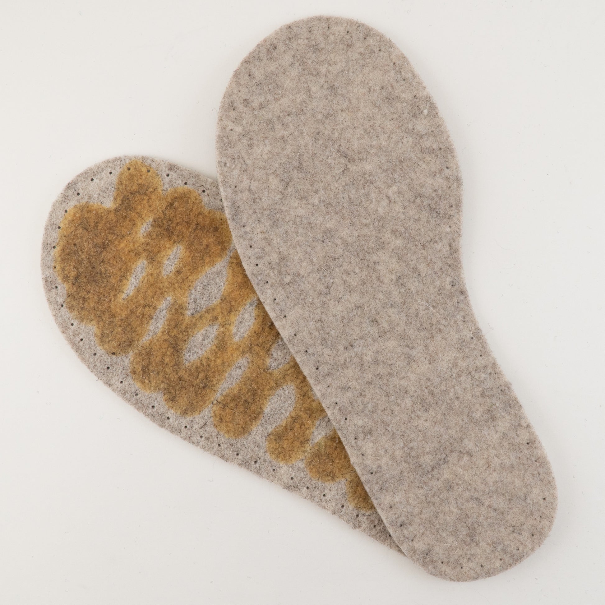
[[[215,181],[151,158],[92,166],[53,204],[42,276],[79,358],[145,416],[397,549],[247,280]]]

